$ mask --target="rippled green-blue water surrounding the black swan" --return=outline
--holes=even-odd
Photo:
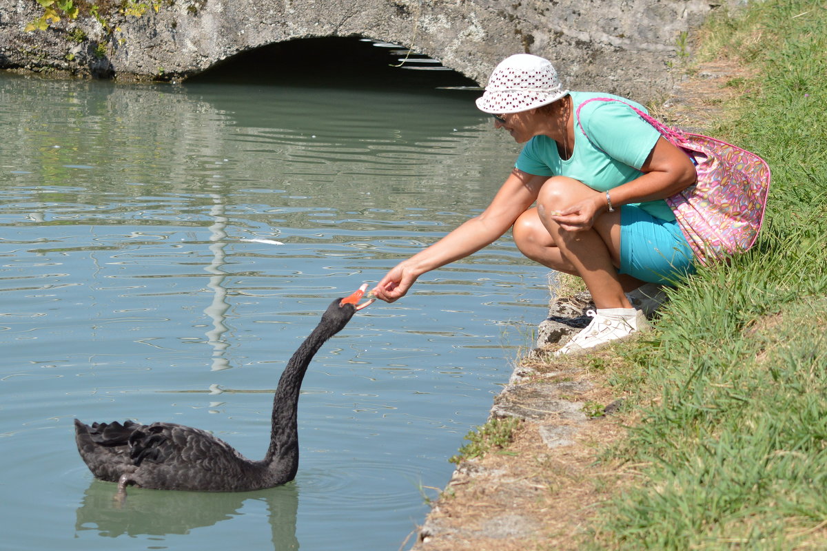
[[[477,93],[399,83],[0,75],[0,548],[410,546],[545,315],[547,270],[508,235],[320,351],[284,487],[119,509],[72,428],[168,420],[264,454],[327,303],[474,216],[513,163]]]

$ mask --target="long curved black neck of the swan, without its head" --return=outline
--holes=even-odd
[[[280,476],[292,480],[299,468],[299,429],[296,413],[299,406],[304,373],[313,356],[322,345],[341,328],[330,327],[323,321],[295,351],[281,374],[279,387],[273,397],[273,418],[270,429],[270,448],[262,463],[270,470],[277,470]]]

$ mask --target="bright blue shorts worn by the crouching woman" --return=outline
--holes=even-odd
[[[677,221],[661,220],[632,205],[620,207],[619,273],[674,285],[695,273],[694,261]]]

